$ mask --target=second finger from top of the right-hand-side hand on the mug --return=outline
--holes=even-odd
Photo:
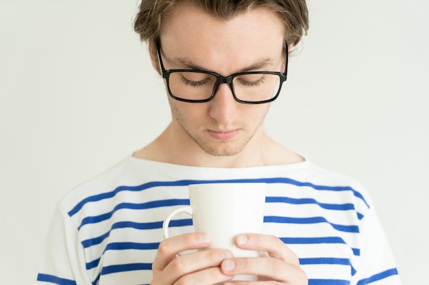
[[[286,284],[306,284],[307,276],[295,264],[289,264],[278,258],[228,258],[223,260],[221,271],[225,275],[250,274]],[[261,278],[260,278],[261,280]]]

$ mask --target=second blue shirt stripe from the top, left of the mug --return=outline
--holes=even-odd
[[[189,200],[188,199],[169,199],[169,200],[159,200],[159,201],[152,201],[147,203],[141,203],[141,204],[134,204],[134,203],[121,203],[117,204],[113,208],[113,211],[110,211],[109,213],[105,213],[98,216],[92,216],[92,217],[86,217],[82,219],[82,223],[80,223],[79,230],[82,228],[82,226],[88,224],[88,223],[99,223],[100,221],[105,221],[106,219],[110,219],[112,215],[121,209],[134,209],[134,210],[143,210],[143,209],[149,209],[149,208],[158,208],[158,207],[164,207],[164,206],[179,206],[179,205],[188,205]]]

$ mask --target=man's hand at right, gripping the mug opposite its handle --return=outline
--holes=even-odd
[[[306,273],[299,267],[298,257],[277,237],[240,234],[236,237],[236,245],[242,249],[260,250],[260,257],[223,260],[221,270],[225,275],[258,275],[259,284],[308,284]],[[231,284],[239,284],[239,281]]]

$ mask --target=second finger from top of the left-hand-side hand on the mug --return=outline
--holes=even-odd
[[[162,280],[160,284],[173,284],[177,280],[182,280],[187,275],[190,275],[189,278],[193,280],[194,277],[201,275],[201,272],[208,272],[213,278],[216,275],[217,279],[221,277],[221,281],[225,281],[228,280],[228,277],[225,277],[219,267],[225,258],[232,257],[232,252],[227,249],[207,249],[192,254],[184,254],[171,260],[164,270],[157,275],[157,279]],[[208,269],[210,270],[207,271]],[[188,277],[186,277],[185,280],[187,280],[187,278]],[[215,283],[217,282],[213,282],[213,284]],[[184,284],[188,283],[186,282]],[[201,284],[203,283],[201,282]]]

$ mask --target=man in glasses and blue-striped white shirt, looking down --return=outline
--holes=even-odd
[[[400,284],[367,192],[264,133],[308,25],[305,1],[143,1],[135,29],[166,84],[172,120],[151,144],[72,191],[58,206],[38,282],[51,284]],[[190,219],[187,185],[267,182],[263,234],[207,249]]]

